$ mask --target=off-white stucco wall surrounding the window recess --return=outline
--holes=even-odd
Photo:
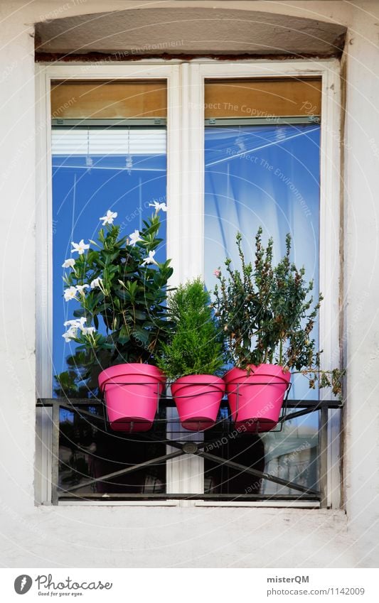
[[[348,26],[344,190],[346,511],[37,507],[33,22],[60,1],[0,6],[1,558],[9,567],[375,567],[378,551],[379,6],[233,2]],[[68,2],[62,16],[104,11]],[[107,10],[137,2],[108,1]],[[145,3],[146,4],[146,3]],[[223,6],[227,1],[162,2]],[[154,3],[154,6],[158,6]],[[37,283],[38,284],[38,283]]]

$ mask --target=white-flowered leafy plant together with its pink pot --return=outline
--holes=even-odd
[[[65,322],[66,341],[78,344],[68,371],[56,376],[58,393],[82,395],[97,389],[105,397],[113,430],[151,427],[165,378],[155,359],[169,336],[167,282],[170,261],[154,258],[159,239],[159,210],[144,228],[120,237],[116,212],[100,218],[98,241],[73,243],[77,258],[65,260],[65,300],[78,300],[73,320]]]

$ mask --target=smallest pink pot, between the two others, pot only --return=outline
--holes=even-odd
[[[225,391],[225,383],[215,375],[179,377],[171,393],[184,428],[203,431],[213,427]]]

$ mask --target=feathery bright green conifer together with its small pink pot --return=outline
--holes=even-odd
[[[183,427],[205,430],[215,424],[225,391],[219,376],[223,335],[199,278],[179,286],[170,295],[169,308],[174,327],[157,364],[169,379],[175,379],[171,393]]]

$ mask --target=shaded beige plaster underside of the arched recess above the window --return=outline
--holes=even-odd
[[[330,57],[339,54],[344,36],[345,28],[336,23],[267,12],[142,8],[100,13],[96,19],[83,15],[38,23],[36,50],[39,60],[44,53],[63,53],[64,57],[78,53],[81,57],[119,49],[127,56],[250,53]]]

